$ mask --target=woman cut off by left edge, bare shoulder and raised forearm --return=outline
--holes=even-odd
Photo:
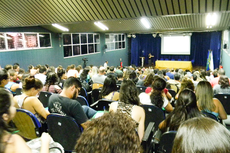
[[[9,129],[8,123],[16,114],[16,109],[12,100],[12,95],[5,89],[0,88],[0,150],[4,153],[32,153],[26,142],[18,134],[13,134],[12,129]],[[49,144],[51,137],[47,133],[42,133],[41,150],[42,153],[49,152]]]

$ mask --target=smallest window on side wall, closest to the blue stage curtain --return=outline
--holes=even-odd
[[[107,45],[106,51],[124,49],[125,48],[125,35],[124,34],[106,34],[105,44]]]

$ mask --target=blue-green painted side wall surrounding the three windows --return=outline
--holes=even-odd
[[[25,27],[25,28],[2,28],[0,32],[50,32],[41,27]],[[106,60],[109,66],[117,66],[122,58],[123,65],[128,65],[128,39],[126,39],[126,48],[116,51],[105,52],[105,33],[100,33],[100,52],[89,55],[81,55],[76,57],[64,58],[62,37],[59,33],[51,33],[52,48],[33,49],[33,50],[15,50],[1,51],[0,65],[4,67],[7,64],[19,63],[22,68],[27,70],[28,65],[34,66],[48,64],[57,67],[62,65],[67,67],[70,64],[83,65],[82,58],[88,58],[87,65],[103,65]]]

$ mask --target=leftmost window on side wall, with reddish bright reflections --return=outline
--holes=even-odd
[[[0,51],[51,47],[49,33],[0,33]]]

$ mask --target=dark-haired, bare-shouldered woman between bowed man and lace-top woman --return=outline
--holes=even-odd
[[[119,92],[117,92],[116,79],[114,76],[109,75],[105,78],[100,98],[115,101],[119,100]]]

